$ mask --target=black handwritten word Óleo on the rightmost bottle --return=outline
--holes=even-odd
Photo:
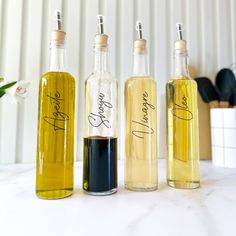
[[[193,113],[189,110],[187,97],[182,97],[180,104],[175,103],[172,109],[173,116],[181,120],[190,121],[193,119]]]

